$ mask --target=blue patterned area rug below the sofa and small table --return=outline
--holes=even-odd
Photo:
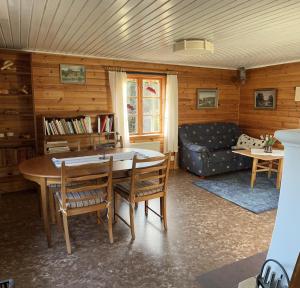
[[[251,173],[242,171],[212,176],[194,184],[256,214],[276,209],[279,191],[275,177],[268,179],[265,173],[257,174],[253,189],[250,179]]]

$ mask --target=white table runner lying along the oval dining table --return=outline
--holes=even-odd
[[[124,161],[124,160],[132,160],[133,156],[137,155],[140,159],[148,158],[148,156],[141,154],[136,151],[130,152],[121,152],[115,154],[105,154],[105,159],[103,159],[103,155],[91,155],[91,156],[80,156],[80,157],[70,157],[70,158],[52,158],[52,162],[56,168],[61,167],[61,163],[64,161],[66,166],[78,166],[84,164],[92,164],[92,163],[103,163],[107,161],[111,156],[113,156],[113,161]]]

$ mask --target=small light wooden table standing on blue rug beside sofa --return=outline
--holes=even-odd
[[[274,150],[280,151],[280,150]],[[253,154],[251,150],[235,150],[233,153],[237,153],[243,156],[247,156],[253,158],[252,164],[252,174],[251,174],[251,188],[254,187],[254,183],[256,180],[256,173],[259,172],[268,172],[268,177],[271,177],[271,172],[277,173],[276,179],[276,188],[280,189],[281,178],[282,178],[282,167],[283,167],[283,155],[282,153],[275,153],[270,155],[268,153],[264,154]],[[276,166],[276,167],[275,167]]]

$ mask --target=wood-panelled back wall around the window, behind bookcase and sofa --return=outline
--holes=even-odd
[[[59,64],[85,65],[86,85],[61,84]],[[233,81],[236,71],[38,53],[32,55],[36,113],[110,111],[111,96],[105,66],[122,67],[127,71],[177,72],[180,123],[238,121],[239,87]],[[219,109],[197,110],[197,88],[219,88]]]

